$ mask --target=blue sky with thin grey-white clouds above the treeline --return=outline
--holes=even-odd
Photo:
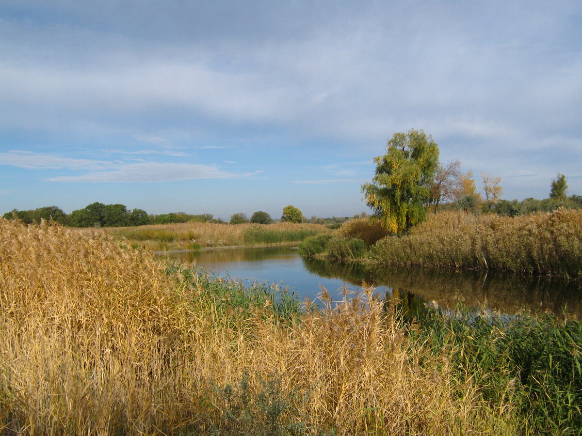
[[[582,195],[582,2],[0,2],[0,213],[368,211],[386,141]]]

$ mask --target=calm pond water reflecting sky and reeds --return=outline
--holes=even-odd
[[[582,317],[582,284],[576,281],[524,277],[516,274],[425,268],[381,268],[367,270],[360,265],[338,265],[303,259],[297,248],[218,249],[167,255],[214,271],[217,276],[239,280],[283,284],[302,298],[315,299],[320,286],[334,299],[347,286],[361,288],[364,280],[377,291],[398,295],[405,305],[418,310],[425,302],[454,308],[462,301],[470,308],[487,308],[513,314],[521,309],[549,310]]]

